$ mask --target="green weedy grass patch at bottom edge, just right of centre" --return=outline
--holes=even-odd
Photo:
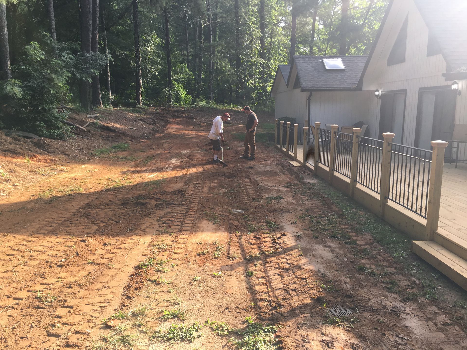
[[[278,348],[278,339],[274,336],[278,327],[270,324],[254,322],[251,317],[246,318],[247,327],[235,330],[241,339],[231,338],[230,342],[238,350],[275,350]]]

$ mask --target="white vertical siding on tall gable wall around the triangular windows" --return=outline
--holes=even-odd
[[[405,62],[387,66],[389,52],[408,15]],[[363,79],[363,90],[407,90],[403,143],[413,146],[417,123],[418,91],[420,88],[450,85],[442,76],[446,62],[442,55],[426,56],[428,28],[412,0],[395,0],[368,70]],[[465,90],[467,82],[460,82]],[[467,93],[467,91],[466,91]],[[457,98],[456,123],[467,123],[466,94]],[[375,130],[379,128],[380,101],[372,101],[375,110]],[[390,132],[391,130],[387,130]]]

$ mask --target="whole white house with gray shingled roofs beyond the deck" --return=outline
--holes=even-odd
[[[276,118],[363,121],[370,137],[393,132],[396,143],[427,149],[431,140],[467,140],[466,17],[466,0],[390,0],[355,86],[344,77],[358,56],[295,56],[287,82],[276,74],[271,90]],[[326,70],[326,58],[344,67]]]

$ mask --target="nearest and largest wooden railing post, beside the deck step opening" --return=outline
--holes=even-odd
[[[438,230],[444,153],[447,145],[448,143],[446,141],[432,141],[432,168],[430,170],[430,186],[428,188],[428,208],[426,214],[426,239],[429,241],[433,240],[434,232]]]

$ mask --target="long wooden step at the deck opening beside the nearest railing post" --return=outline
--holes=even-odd
[[[467,261],[434,241],[412,241],[412,251],[467,290]]]

